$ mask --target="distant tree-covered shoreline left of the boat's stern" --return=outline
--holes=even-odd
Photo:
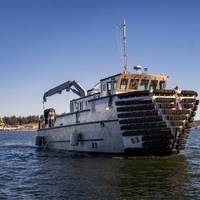
[[[2,121],[4,125],[11,125],[11,126],[16,126],[16,125],[24,125],[24,124],[35,124],[39,123],[40,120],[43,120],[43,115],[31,115],[27,117],[16,117],[15,115],[10,116],[10,117],[3,117]]]

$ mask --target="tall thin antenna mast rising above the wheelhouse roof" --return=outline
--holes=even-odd
[[[124,50],[124,72],[127,72],[128,68],[128,54],[127,54],[127,36],[126,36],[126,21],[123,20],[121,24],[121,30],[123,34],[123,50]]]

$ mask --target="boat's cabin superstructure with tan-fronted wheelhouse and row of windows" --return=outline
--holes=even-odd
[[[87,96],[72,100],[70,102],[70,112],[88,109],[88,101],[91,99],[133,91],[165,89],[166,82],[167,76],[163,74],[152,75],[146,72],[116,74],[101,79],[99,84],[87,91]]]

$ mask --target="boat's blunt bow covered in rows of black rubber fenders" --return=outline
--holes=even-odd
[[[137,91],[118,95],[125,152],[169,155],[185,148],[199,100],[194,91]]]

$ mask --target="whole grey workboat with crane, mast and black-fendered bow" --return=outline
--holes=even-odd
[[[70,101],[69,113],[50,119],[49,124],[45,110],[46,123],[36,138],[39,147],[130,156],[164,156],[185,148],[199,104],[197,92],[167,89],[166,75],[150,74],[138,65],[128,71],[125,21],[122,33],[122,73],[101,79],[88,91],[76,81],[67,81],[44,94],[44,101],[63,90],[79,97]]]

